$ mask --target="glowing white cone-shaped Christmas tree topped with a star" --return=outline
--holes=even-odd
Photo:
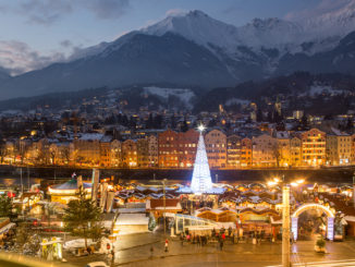
[[[205,130],[205,128],[200,125],[198,126],[198,130],[199,138],[191,189],[194,193],[206,193],[212,189],[212,179],[211,173],[209,171],[208,158],[203,136],[203,131]]]

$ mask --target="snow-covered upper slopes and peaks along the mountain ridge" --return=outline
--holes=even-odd
[[[154,25],[131,32],[112,43],[100,43],[77,50],[70,60],[96,56],[106,49],[110,51],[119,49],[128,37],[139,33],[155,36],[163,36],[167,33],[178,34],[212,52],[216,52],[217,48],[222,49],[223,53],[233,56],[235,60],[240,60],[240,57],[245,58],[245,54],[238,51],[238,47],[247,47],[257,53],[265,48],[278,49],[279,57],[286,52],[305,52],[309,56],[333,49],[341,38],[353,31],[355,31],[355,0],[348,0],[347,4],[336,10],[303,21],[255,19],[240,27],[194,10],[171,14]]]

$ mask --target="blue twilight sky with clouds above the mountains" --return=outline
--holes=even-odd
[[[111,41],[178,11],[201,10],[238,26],[254,17],[295,20],[346,1],[0,0],[0,66],[12,74],[38,69],[63,60],[75,49]]]

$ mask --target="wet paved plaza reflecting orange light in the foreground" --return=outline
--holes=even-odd
[[[188,244],[181,245],[179,239],[169,239],[169,252],[164,252],[162,233],[142,233],[121,235],[115,245],[115,266],[210,266],[221,263],[229,266],[246,264],[245,266],[267,266],[281,263],[281,243],[262,242],[259,245],[252,243],[232,244],[227,241],[223,251],[219,243],[209,243],[206,246]],[[314,251],[314,242],[299,241],[292,245],[291,259],[294,263],[310,263],[354,258],[355,242],[327,242],[329,254],[318,254]],[[154,248],[151,254],[150,248]],[[111,263],[109,255],[90,255],[86,257],[66,258],[71,264],[85,266],[89,262]],[[223,266],[224,266],[223,265]],[[241,265],[241,266],[243,266]],[[216,265],[215,265],[216,266]]]

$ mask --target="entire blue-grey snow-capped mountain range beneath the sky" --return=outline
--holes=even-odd
[[[241,27],[201,11],[170,15],[82,49],[69,62],[7,78],[0,97],[130,85],[212,88],[295,71],[355,74],[354,7],[306,22],[255,19]]]

